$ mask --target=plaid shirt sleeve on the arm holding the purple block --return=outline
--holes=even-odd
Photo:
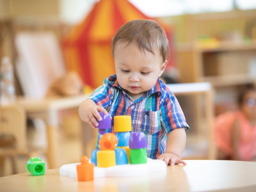
[[[88,98],[94,101],[96,105],[104,107],[107,111],[109,111],[112,100],[111,85],[109,84],[107,78],[103,80],[103,85],[95,89],[93,94]]]

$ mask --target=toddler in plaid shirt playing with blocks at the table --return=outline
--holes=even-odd
[[[168,87],[159,80],[169,59],[168,39],[154,20],[132,20],[122,25],[111,42],[116,75],[82,102],[81,119],[92,128],[101,121],[99,112],[130,115],[132,132],[143,132],[147,155],[166,164],[181,160],[189,129],[181,107]],[[111,128],[106,133],[114,132]],[[98,134],[96,149],[99,148]]]

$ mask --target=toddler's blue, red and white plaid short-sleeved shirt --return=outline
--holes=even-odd
[[[147,155],[151,159],[165,152],[167,134],[176,128],[185,127],[185,117],[174,94],[161,81],[134,101],[118,84],[116,75],[104,79],[103,85],[89,97],[97,105],[103,106],[109,114],[131,115],[132,132],[143,132],[147,139]],[[113,118],[111,128],[106,133],[115,133]],[[98,134],[96,149],[99,149]]]

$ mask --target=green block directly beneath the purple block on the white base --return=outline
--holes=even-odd
[[[130,149],[130,164],[147,163],[147,148]]]

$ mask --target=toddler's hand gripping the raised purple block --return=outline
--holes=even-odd
[[[85,120],[86,120],[86,122],[89,123],[89,125],[92,128],[97,127],[99,125],[98,121],[102,120],[102,117],[100,116],[99,112],[102,112],[104,114],[108,113],[106,111],[106,109],[104,109],[102,106],[98,106],[98,105],[88,108],[88,110],[86,112]],[[111,119],[112,119],[112,117],[111,117]]]

